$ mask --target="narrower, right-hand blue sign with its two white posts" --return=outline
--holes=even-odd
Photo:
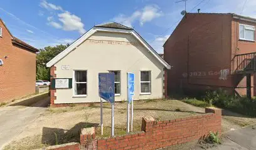
[[[132,119],[133,119],[133,98],[134,95],[134,74],[127,73],[127,133],[130,131],[130,103],[132,102],[132,114],[131,114],[131,131],[132,131]]]

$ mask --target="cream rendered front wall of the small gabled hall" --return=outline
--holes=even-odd
[[[65,51],[63,53],[67,53]],[[109,73],[109,71],[120,73],[120,79],[117,79],[116,84],[120,85],[120,92],[115,94],[115,101],[127,99],[127,73],[135,75],[135,100],[164,97],[164,64],[132,34],[109,31],[93,32],[65,56],[61,58],[60,55],[54,58],[57,60],[51,60],[47,66],[56,66],[56,78],[72,78],[73,81],[71,89],[56,89],[55,104],[100,102],[98,76],[99,73]],[[86,78],[84,77],[86,80],[82,82],[83,87],[86,86],[83,92],[85,90],[86,92],[81,95],[77,94],[75,88],[78,82],[75,78],[75,71],[86,71],[83,72],[83,76],[86,74]],[[149,81],[141,81],[141,71],[149,71],[143,73],[150,74]],[[146,91],[149,91],[147,93],[144,93],[143,85],[145,84]]]

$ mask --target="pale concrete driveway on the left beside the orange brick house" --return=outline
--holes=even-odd
[[[24,129],[29,128],[29,124],[43,113],[50,98],[40,99],[31,106],[6,106],[0,108],[0,149],[11,142]]]

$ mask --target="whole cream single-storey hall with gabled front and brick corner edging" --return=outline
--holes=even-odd
[[[164,69],[170,69],[136,31],[115,22],[94,26],[46,66],[53,87],[54,79],[70,84],[51,89],[51,105],[100,102],[98,74],[109,72],[115,73],[115,101],[127,99],[127,73],[135,75],[135,100],[161,99]]]

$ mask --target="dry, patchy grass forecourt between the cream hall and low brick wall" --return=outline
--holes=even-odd
[[[104,137],[110,136],[111,105],[104,103]],[[184,118],[204,113],[203,108],[196,108],[176,100],[134,101],[134,132],[141,131],[144,116],[157,120]],[[127,103],[115,103],[115,135],[126,133]],[[79,142],[80,129],[100,124],[100,104],[93,106],[73,106],[48,108],[40,118],[29,124],[16,141],[9,144],[9,149],[35,149],[44,145]],[[56,135],[57,138],[56,138]],[[97,137],[100,129],[97,128]],[[56,140],[58,139],[58,140]]]

